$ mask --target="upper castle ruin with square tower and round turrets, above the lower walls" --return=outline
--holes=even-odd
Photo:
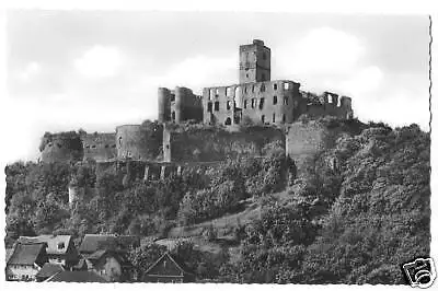
[[[239,83],[203,90],[203,96],[186,88],[159,89],[160,123],[193,119],[208,125],[291,124],[300,115],[333,115],[353,118],[351,100],[324,92],[323,95],[300,91],[300,83],[270,80],[270,49],[263,40],[239,49]]]

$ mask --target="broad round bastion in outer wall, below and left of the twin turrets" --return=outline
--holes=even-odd
[[[124,125],[116,128],[118,159],[157,160],[162,154],[162,126]]]

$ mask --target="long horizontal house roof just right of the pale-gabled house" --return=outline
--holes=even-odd
[[[127,251],[130,245],[139,246],[140,237],[132,235],[85,234],[79,247],[79,252],[94,253],[110,246],[120,247],[123,251]]]

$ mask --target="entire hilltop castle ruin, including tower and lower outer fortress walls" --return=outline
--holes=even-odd
[[[115,132],[81,135],[81,155],[77,137],[70,138],[74,138],[73,149],[66,137],[53,135],[41,149],[42,161],[67,162],[74,156],[74,161],[92,159],[103,164],[131,160],[146,163],[145,178],[153,174],[152,167],[160,168],[153,176],[164,176],[169,168],[181,174],[188,164],[258,156],[263,147],[273,141],[281,141],[286,149],[290,140],[301,144],[300,137],[291,137],[278,127],[292,125],[301,115],[353,118],[351,100],[347,96],[331,92],[316,95],[301,91],[300,83],[270,80],[272,55],[263,40],[240,46],[239,56],[238,84],[205,88],[203,95],[183,86],[159,88],[158,121],[122,125]],[[203,126],[189,132],[178,130],[177,125],[186,121]],[[239,125],[255,125],[258,129],[231,130]]]

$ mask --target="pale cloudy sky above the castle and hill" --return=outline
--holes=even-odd
[[[428,25],[425,15],[9,11],[4,104],[20,132],[9,159],[36,159],[45,131],[155,119],[159,86],[234,84],[239,45],[254,38],[270,47],[273,80],[350,96],[362,121],[429,130]]]

